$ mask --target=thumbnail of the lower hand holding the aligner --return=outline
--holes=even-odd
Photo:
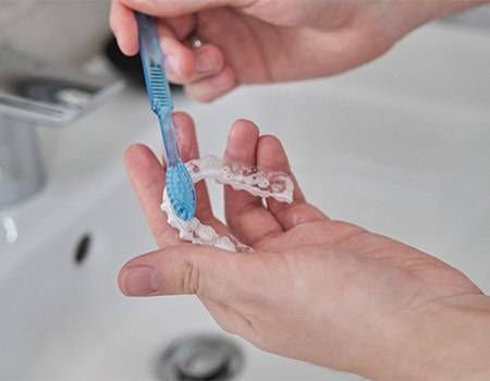
[[[157,271],[149,266],[128,268],[123,274],[123,292],[128,296],[150,294],[158,290],[159,284]]]

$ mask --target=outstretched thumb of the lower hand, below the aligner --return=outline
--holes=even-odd
[[[196,294],[229,300],[246,284],[249,254],[182,244],[144,254],[121,269],[119,286],[127,296]]]

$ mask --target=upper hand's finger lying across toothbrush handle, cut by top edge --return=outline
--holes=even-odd
[[[139,12],[151,14],[159,17],[179,17],[186,14],[196,13],[207,9],[234,7],[242,8],[252,4],[256,0],[160,0],[158,7],[156,2],[146,0],[122,0],[127,7]]]

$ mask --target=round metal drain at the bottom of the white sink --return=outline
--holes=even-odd
[[[240,348],[217,334],[185,336],[174,341],[158,362],[161,380],[231,380],[243,364]]]

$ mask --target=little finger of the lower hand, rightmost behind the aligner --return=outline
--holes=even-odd
[[[281,202],[272,197],[267,199],[267,206],[283,230],[290,230],[303,223],[323,221],[327,216],[306,202],[305,196],[291,172],[287,156],[281,142],[271,135],[260,136],[257,143],[257,167],[266,171],[285,172],[294,184],[293,202]]]

